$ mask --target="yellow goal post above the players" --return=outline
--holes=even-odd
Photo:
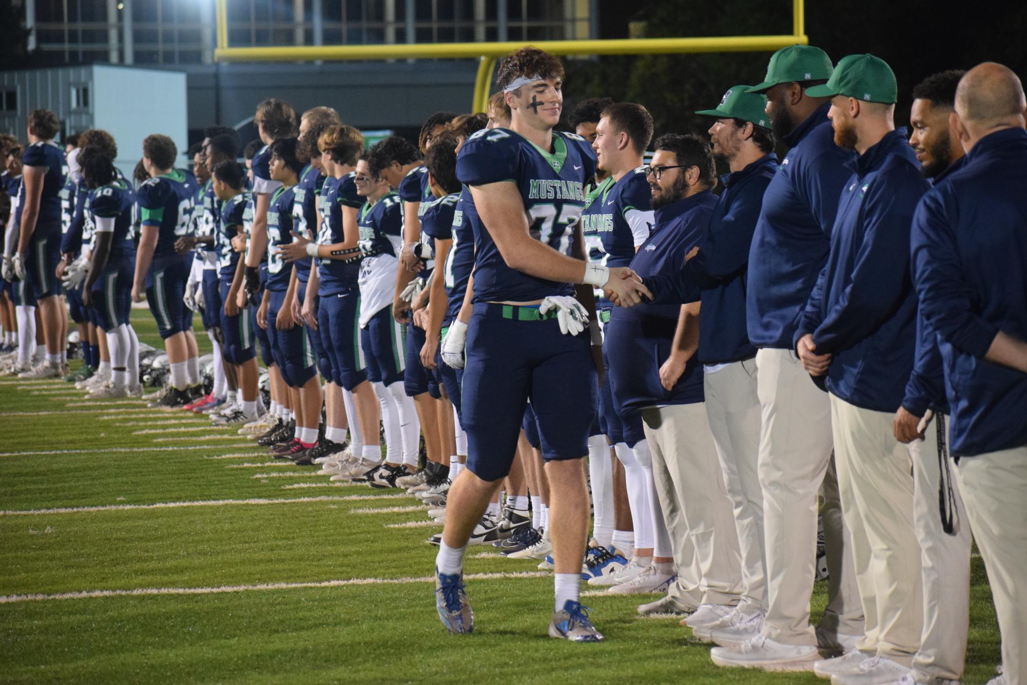
[[[622,38],[603,40],[538,40],[470,43],[389,43],[376,45],[282,45],[229,47],[228,0],[216,0],[219,62],[338,62],[348,60],[438,60],[478,58],[472,111],[484,112],[489,101],[497,58],[525,45],[553,54],[655,54],[687,52],[762,52],[789,45],[806,45],[805,0],[792,0],[792,34],[781,36],[716,36],[708,38]]]

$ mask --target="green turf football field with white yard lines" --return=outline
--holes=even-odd
[[[417,499],[330,484],[193,414],[7,377],[0,439],[0,682],[826,682],[719,669],[676,618],[638,616],[650,596],[586,592],[607,642],[550,640],[548,573],[491,545],[465,567],[474,633],[451,636]],[[999,654],[973,563],[975,684]],[[815,620],[825,583],[812,604]]]

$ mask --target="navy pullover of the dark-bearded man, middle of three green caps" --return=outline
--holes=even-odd
[[[827,261],[838,197],[855,154],[834,144],[830,104],[785,137],[791,150],[763,195],[749,252],[746,322],[756,347],[791,349]]]

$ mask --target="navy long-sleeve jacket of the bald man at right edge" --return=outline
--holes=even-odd
[[[957,457],[1027,445],[1027,374],[984,358],[999,331],[1027,340],[1025,188],[1027,131],[1001,129],[913,221],[916,291],[940,341]]]

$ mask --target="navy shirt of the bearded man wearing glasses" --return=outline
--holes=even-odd
[[[632,260],[632,269],[645,282],[649,276],[681,273],[685,255],[706,237],[716,204],[717,196],[705,190],[656,210],[656,223]],[[674,304],[651,302],[611,310],[604,345],[613,402],[624,412],[705,399],[702,365],[694,354],[673,388],[667,390],[659,382],[659,368],[674,345],[681,303],[699,299],[697,286],[690,290]]]

